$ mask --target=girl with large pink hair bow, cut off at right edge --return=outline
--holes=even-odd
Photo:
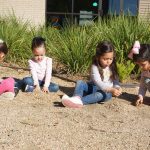
[[[128,57],[142,69],[138,98],[135,103],[139,106],[143,103],[146,91],[150,92],[150,44],[140,44],[139,41],[135,41]]]

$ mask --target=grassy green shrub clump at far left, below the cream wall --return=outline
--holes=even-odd
[[[14,16],[0,18],[0,38],[9,46],[7,61],[25,65],[31,55],[28,23],[23,23]]]

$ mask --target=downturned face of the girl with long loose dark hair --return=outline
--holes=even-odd
[[[114,57],[113,52],[105,53],[103,56],[100,56],[99,63],[101,65],[101,67],[106,68],[106,67],[110,66],[113,62],[113,57]]]

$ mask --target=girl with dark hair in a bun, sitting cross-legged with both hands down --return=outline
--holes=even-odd
[[[52,58],[46,57],[45,39],[35,37],[32,40],[33,58],[30,59],[29,66],[31,77],[23,79],[25,84],[25,92],[33,92],[42,89],[43,92],[57,92],[58,85],[51,83],[52,76]]]

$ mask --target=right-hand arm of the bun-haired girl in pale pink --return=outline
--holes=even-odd
[[[50,85],[50,81],[51,81],[51,77],[52,77],[52,59],[51,58],[47,58],[46,60],[46,74],[45,74],[45,84],[43,87],[43,90],[46,92],[48,92],[48,87]]]

